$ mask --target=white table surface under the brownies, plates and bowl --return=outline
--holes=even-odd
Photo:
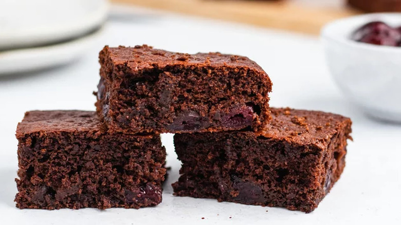
[[[178,178],[180,163],[172,135],[163,135],[172,170],[163,202],[157,207],[104,211],[15,208],[17,122],[25,111],[33,109],[94,110],[96,99],[92,91],[99,81],[97,56],[106,44],[148,44],[171,51],[221,51],[248,56],[274,82],[272,106],[324,110],[351,117],[354,142],[349,143],[341,179],[311,214],[174,197],[170,184]],[[153,11],[114,14],[96,47],[77,62],[0,78],[0,102],[0,224],[399,224],[401,219],[401,126],[365,117],[341,95],[314,36]]]

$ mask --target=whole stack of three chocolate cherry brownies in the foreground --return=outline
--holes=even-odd
[[[161,202],[161,133],[182,162],[176,196],[312,212],[345,166],[351,120],[269,108],[253,61],[108,46],[97,112],[30,111],[17,127],[19,208],[140,208]]]

